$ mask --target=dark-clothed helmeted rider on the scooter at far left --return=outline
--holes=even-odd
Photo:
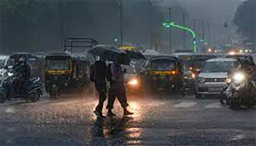
[[[31,75],[31,69],[30,66],[27,65],[26,58],[21,57],[14,66],[14,72],[17,73],[18,78],[16,82],[14,83],[14,91],[15,93],[21,95],[21,96],[26,96],[27,93],[27,88],[26,88],[26,83],[27,80],[30,78]]]

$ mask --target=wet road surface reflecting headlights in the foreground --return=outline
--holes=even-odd
[[[128,101],[133,116],[123,117],[116,100],[113,112],[117,117],[103,120],[93,114],[95,97],[3,103],[0,145],[256,146],[255,107],[233,111],[217,99],[193,96]]]

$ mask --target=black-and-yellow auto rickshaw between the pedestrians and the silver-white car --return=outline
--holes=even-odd
[[[139,76],[146,90],[183,91],[185,76],[189,75],[183,68],[179,57],[154,56],[143,64]]]

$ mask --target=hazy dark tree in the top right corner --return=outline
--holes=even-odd
[[[237,33],[247,41],[255,42],[256,33],[256,0],[247,0],[241,3],[236,10],[233,23],[237,26]]]

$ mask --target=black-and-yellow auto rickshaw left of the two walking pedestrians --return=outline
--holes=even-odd
[[[89,83],[90,61],[82,56],[51,53],[45,57],[45,88],[50,97]]]

